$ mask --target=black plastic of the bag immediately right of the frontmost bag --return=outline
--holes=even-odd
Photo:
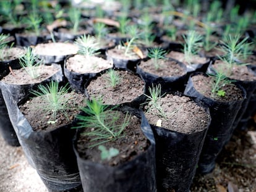
[[[201,106],[198,101],[197,104]],[[203,141],[210,125],[202,131],[179,133],[151,125],[156,140],[156,181],[158,191],[187,192],[195,175]]]

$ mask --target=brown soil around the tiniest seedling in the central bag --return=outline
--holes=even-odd
[[[87,91],[90,98],[102,99],[104,104],[122,104],[131,102],[144,92],[144,81],[137,75],[127,71],[116,70],[121,76],[118,85],[111,87],[106,80],[108,75],[103,73],[100,77],[90,81]]]

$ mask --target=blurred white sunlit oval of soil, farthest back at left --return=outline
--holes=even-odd
[[[35,53],[43,56],[68,56],[77,51],[78,47],[72,43],[41,43],[35,46]]]

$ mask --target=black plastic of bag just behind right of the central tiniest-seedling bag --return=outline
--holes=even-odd
[[[181,62],[177,62],[177,65],[182,67],[186,71],[186,66]],[[161,90],[163,92],[169,91],[181,91],[183,92],[185,87],[186,73],[182,76],[173,77],[161,77],[152,73],[145,72],[140,65],[137,64],[136,73],[138,73],[146,83],[146,87],[151,87],[152,85],[161,85]],[[146,91],[148,93],[148,90]]]

